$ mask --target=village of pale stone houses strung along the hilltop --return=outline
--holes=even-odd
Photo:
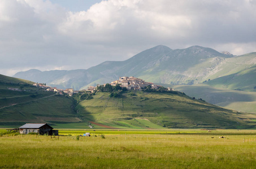
[[[142,88],[145,88],[147,86],[150,86],[152,89],[158,89],[159,87],[162,87],[160,85],[151,83],[151,82],[145,82],[142,79],[136,78],[136,77],[119,77],[117,81],[113,81],[109,83],[111,86],[116,86],[120,85],[120,87],[125,87],[127,90],[142,90]],[[81,91],[75,91],[73,88],[66,88],[66,90],[59,89],[57,87],[50,87],[46,86],[45,83],[34,83],[33,86],[40,87],[40,88],[45,88],[46,91],[51,91],[51,92],[58,92],[60,95],[68,94],[70,96],[73,96],[73,94],[78,94]],[[97,84],[97,86],[89,86],[87,90],[89,92],[95,92],[97,91],[97,87],[101,86],[101,84]],[[103,84],[105,87],[106,84]],[[168,91],[174,91],[173,88],[168,87]]]

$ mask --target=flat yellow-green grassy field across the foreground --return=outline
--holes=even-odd
[[[256,166],[255,130],[59,130],[59,139],[1,131],[0,168]],[[85,132],[93,136],[77,137]]]

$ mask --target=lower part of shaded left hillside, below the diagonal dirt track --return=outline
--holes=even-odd
[[[24,123],[79,122],[72,108],[73,102],[64,96],[54,95],[40,100],[30,100],[0,109],[0,127],[19,127]]]

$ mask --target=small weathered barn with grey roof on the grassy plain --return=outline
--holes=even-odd
[[[53,127],[49,126],[47,123],[27,123],[19,127],[20,134],[29,134],[30,132],[35,132],[40,135],[55,135],[59,134],[58,130],[53,130]]]

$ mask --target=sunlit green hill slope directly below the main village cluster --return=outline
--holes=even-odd
[[[255,125],[250,120],[255,118],[253,114],[223,109],[180,92],[132,95],[128,92],[120,98],[99,92],[93,97],[76,107],[79,117],[116,128],[250,128]],[[145,123],[149,121],[158,127]]]

